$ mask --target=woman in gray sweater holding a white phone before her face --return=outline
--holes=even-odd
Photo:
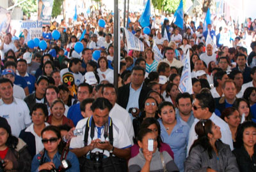
[[[160,153],[158,151],[157,136],[151,129],[141,129],[137,140],[140,146],[140,153],[129,160],[128,168],[130,172],[164,171],[164,168],[166,171],[179,171],[172,157],[167,152]],[[152,151],[148,150],[148,140],[153,140]]]

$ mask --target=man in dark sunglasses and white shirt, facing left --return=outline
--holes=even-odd
[[[211,96],[211,94],[196,94],[192,110],[195,116],[195,121],[192,124],[191,129],[189,131],[187,155],[189,154],[189,150],[193,145],[194,141],[198,138],[198,136],[195,133],[195,125],[200,119],[210,119],[212,120],[212,122],[214,122],[214,124],[218,125],[221,131],[221,141],[229,145],[231,150],[234,149],[232,134],[228,127],[228,124],[214,113],[214,99]]]

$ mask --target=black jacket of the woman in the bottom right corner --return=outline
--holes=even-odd
[[[233,150],[236,156],[236,161],[240,171],[243,172],[255,172],[256,171],[256,145],[254,145],[254,154],[252,159],[250,155],[245,150],[244,146],[241,148],[236,148]]]

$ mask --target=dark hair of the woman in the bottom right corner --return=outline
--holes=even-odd
[[[254,127],[256,129],[256,124],[252,121],[245,121],[238,126],[237,133],[236,133],[237,148],[241,148],[243,146],[243,144],[244,144],[244,141],[243,141],[244,129],[249,128],[249,127]]]

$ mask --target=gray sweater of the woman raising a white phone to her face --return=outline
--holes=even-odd
[[[168,172],[179,171],[179,168],[176,166],[172,157],[167,152],[165,151],[163,152],[163,157],[164,157],[164,163],[166,164],[166,169]],[[129,163],[128,163],[129,172],[141,171],[145,162],[146,162],[145,157],[140,148],[140,153],[129,160]],[[160,152],[158,150],[153,154],[152,160],[150,162],[150,171],[151,172],[164,171],[163,165],[161,162]]]

